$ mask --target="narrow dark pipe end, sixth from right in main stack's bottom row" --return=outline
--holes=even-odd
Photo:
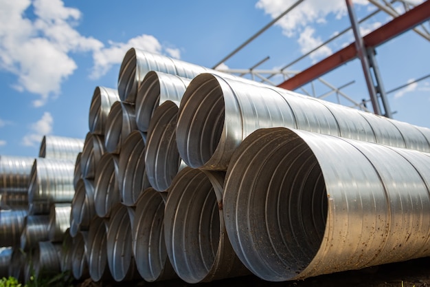
[[[87,231],[80,231],[73,237],[73,251],[71,254],[72,274],[76,280],[86,279],[89,277],[88,261],[87,261],[87,246],[88,246]]]

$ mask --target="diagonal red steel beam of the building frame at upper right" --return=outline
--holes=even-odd
[[[429,19],[430,0],[427,0],[364,36],[364,45],[365,47],[376,47]],[[335,54],[280,83],[278,87],[290,90],[297,89],[355,58],[357,58],[357,49],[355,44],[351,43]]]

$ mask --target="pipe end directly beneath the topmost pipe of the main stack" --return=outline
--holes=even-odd
[[[104,132],[106,151],[120,153],[122,142],[135,129],[137,129],[135,106],[122,102],[113,103]]]

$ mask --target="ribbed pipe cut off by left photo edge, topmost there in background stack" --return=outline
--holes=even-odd
[[[0,156],[0,208],[27,206],[33,162],[34,158]]]

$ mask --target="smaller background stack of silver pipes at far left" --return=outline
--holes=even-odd
[[[0,157],[2,277],[26,282],[60,272],[74,160],[82,147],[83,140],[44,136],[38,158]]]

